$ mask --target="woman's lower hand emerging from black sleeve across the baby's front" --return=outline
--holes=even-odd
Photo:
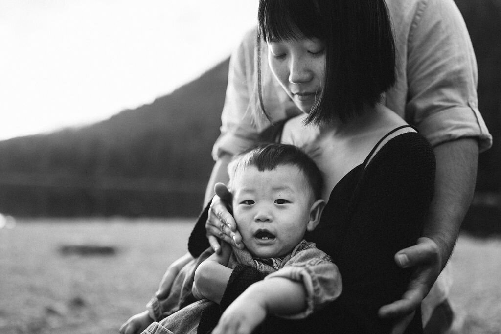
[[[231,246],[222,242],[220,254],[214,253],[200,263],[195,270],[195,280],[191,288],[196,298],[207,298],[216,303],[221,301],[233,272],[227,267],[230,256]]]

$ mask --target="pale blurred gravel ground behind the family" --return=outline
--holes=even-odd
[[[192,222],[32,219],[0,229],[0,333],[117,333],[186,252]],[[501,333],[500,259],[500,239],[459,237],[451,300],[463,332]]]

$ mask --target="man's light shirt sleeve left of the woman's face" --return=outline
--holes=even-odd
[[[294,105],[279,82],[273,77],[267,61],[267,45],[261,43],[261,81],[263,105],[268,119],[259,107],[257,90],[257,28],[246,33],[231,54],[228,85],[221,113],[221,134],[212,148],[217,160],[223,153],[234,155],[251,147],[259,134],[272,123],[279,122],[301,111]]]

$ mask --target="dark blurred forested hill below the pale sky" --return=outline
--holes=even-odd
[[[494,137],[477,178],[477,190],[490,195],[474,203],[490,203],[478,212],[501,217],[501,0],[456,3],[477,58],[479,108]],[[196,215],[227,67],[226,60],[172,94],[91,126],[0,142],[0,212]]]

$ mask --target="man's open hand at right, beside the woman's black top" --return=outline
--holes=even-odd
[[[395,318],[392,333],[402,333],[412,320],[442,269],[439,247],[430,238],[421,237],[417,244],[395,254],[395,262],[401,268],[412,268],[412,279],[400,300],[379,309],[382,318]]]

